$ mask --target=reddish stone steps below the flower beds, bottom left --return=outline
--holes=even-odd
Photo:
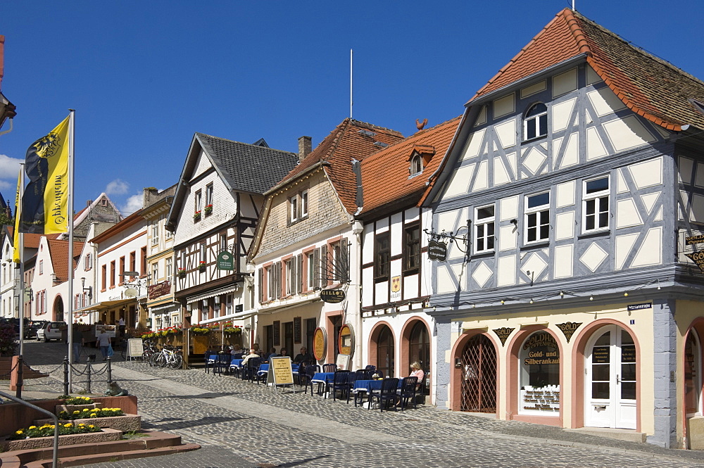
[[[128,458],[153,457],[168,455],[183,450],[196,450],[197,444],[182,444],[181,436],[158,431],[144,431],[148,434],[142,438],[103,443],[84,443],[62,445],[58,448],[61,466],[127,460]],[[3,468],[50,467],[53,448],[35,448],[32,450],[15,450],[0,454],[0,466]],[[70,464],[64,464],[71,460]]]

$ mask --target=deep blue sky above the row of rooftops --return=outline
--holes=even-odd
[[[32,141],[76,109],[75,209],[120,210],[180,177],[194,132],[297,151],[349,116],[415,132],[464,103],[571,2],[3,2],[0,191],[13,199]],[[577,11],[704,79],[704,2],[577,0]],[[635,8],[634,8],[635,7]],[[3,130],[8,129],[6,123]]]

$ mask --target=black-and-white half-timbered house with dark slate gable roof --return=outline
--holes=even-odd
[[[232,320],[252,308],[245,270],[263,193],[287,174],[296,155],[196,133],[166,219],[173,234],[174,296],[185,326]],[[234,270],[219,270],[218,255],[232,255]]]

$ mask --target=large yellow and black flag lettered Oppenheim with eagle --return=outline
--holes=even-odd
[[[69,123],[70,116],[27,148],[20,232],[68,232]]]

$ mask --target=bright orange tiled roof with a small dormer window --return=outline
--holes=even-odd
[[[364,206],[360,214],[364,216],[402,199],[406,206],[417,204],[445,156],[460,118],[421,130],[365,158],[361,165]],[[411,177],[409,168],[413,153],[432,155],[432,158],[424,164],[420,174]]]

